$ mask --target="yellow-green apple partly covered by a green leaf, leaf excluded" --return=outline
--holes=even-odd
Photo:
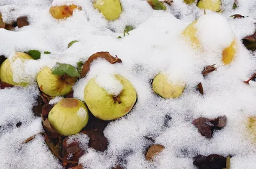
[[[65,96],[72,91],[72,85],[76,83],[76,77],[65,77],[52,74],[48,67],[43,68],[36,76],[40,91],[49,96]]]

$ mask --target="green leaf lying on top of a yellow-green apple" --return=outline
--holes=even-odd
[[[54,75],[68,75],[68,77],[80,77],[79,72],[74,66],[66,63],[57,63],[57,65],[52,69],[52,74]]]

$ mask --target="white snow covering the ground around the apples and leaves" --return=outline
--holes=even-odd
[[[82,10],[74,11],[73,16],[65,20],[51,17],[51,5],[71,3],[81,6]],[[236,10],[232,10],[233,3],[225,0],[222,13],[206,10],[204,15],[196,3],[187,5],[181,0],[175,0],[166,11],[152,10],[147,1],[122,0],[124,11],[120,18],[108,22],[90,0],[1,0],[0,11],[5,22],[26,15],[30,24],[14,31],[0,29],[0,55],[12,57],[14,52],[33,49],[40,50],[42,55],[36,61],[26,61],[24,67],[13,64],[17,76],[31,85],[0,90],[0,168],[62,168],[44,138],[38,135],[44,130],[41,119],[32,112],[39,94],[36,74],[44,66],[52,68],[56,62],[76,66],[76,62],[86,61],[95,52],[108,51],[118,55],[122,63],[93,61],[88,75],[74,85],[74,97],[84,101],[84,87],[95,77],[99,85],[116,94],[121,91],[120,84],[109,76],[122,75],[136,89],[138,101],[132,112],[111,121],[104,130],[109,141],[105,152],[84,148],[86,153],[79,159],[84,168],[120,165],[124,169],[194,169],[193,157],[197,154],[231,154],[230,169],[254,169],[256,145],[246,134],[246,120],[256,115],[256,82],[246,85],[243,81],[255,73],[256,57],[255,52],[244,48],[241,38],[255,31],[256,0],[239,0]],[[230,18],[236,13],[249,17]],[[211,45],[211,53],[206,56],[191,48],[181,36],[186,26],[200,16],[198,36]],[[135,29],[123,37],[124,27],[128,25]],[[236,58],[223,66],[218,53],[234,37],[239,47]],[[72,40],[79,42],[67,48]],[[218,70],[202,77],[204,66],[215,63]],[[21,68],[25,69],[20,71]],[[186,84],[179,98],[163,99],[154,94],[150,82],[161,72]],[[204,87],[204,96],[195,90],[199,82]],[[58,99],[52,99],[51,104]],[[198,117],[221,115],[227,116],[227,126],[215,131],[211,139],[200,135],[191,124]],[[169,121],[168,116],[172,117]],[[17,122],[22,122],[19,128],[15,125]],[[36,135],[33,140],[24,143],[33,135]],[[145,160],[144,153],[152,145],[147,137],[165,147],[154,163]],[[74,139],[81,140],[84,147],[88,144],[85,135],[81,139],[74,136]]]

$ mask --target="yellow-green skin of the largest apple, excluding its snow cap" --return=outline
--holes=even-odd
[[[118,119],[129,113],[136,102],[136,91],[131,82],[120,75],[115,75],[115,78],[123,85],[123,91],[118,95],[120,104],[105,89],[97,85],[95,78],[92,78],[84,89],[84,101],[98,119]]]

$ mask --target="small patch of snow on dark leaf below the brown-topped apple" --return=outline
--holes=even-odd
[[[89,137],[86,134],[78,133],[76,135],[68,136],[67,144],[72,142],[78,142],[81,149],[86,150],[88,148]]]

